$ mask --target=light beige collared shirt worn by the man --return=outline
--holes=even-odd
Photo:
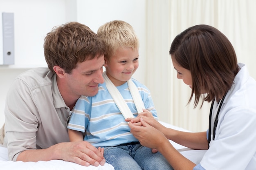
[[[7,93],[4,145],[9,159],[16,161],[24,150],[44,149],[69,141],[66,121],[70,116],[56,83],[56,75],[48,68],[22,73]]]

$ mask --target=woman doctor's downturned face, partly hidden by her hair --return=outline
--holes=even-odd
[[[173,61],[173,67],[177,71],[177,79],[182,79],[186,85],[189,85],[189,87],[192,88],[191,72],[186,68],[183,68],[182,66],[180,66],[177,63],[177,61],[174,59],[174,57],[171,57],[171,59]]]

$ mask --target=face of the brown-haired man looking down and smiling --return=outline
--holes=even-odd
[[[104,55],[92,60],[78,63],[71,74],[67,74],[67,91],[73,95],[94,96],[98,93],[98,84],[103,83],[102,77]]]

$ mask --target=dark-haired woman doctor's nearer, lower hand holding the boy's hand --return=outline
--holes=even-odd
[[[168,139],[164,136],[162,132],[160,132],[153,126],[150,126],[146,121],[144,121],[144,119],[145,118],[140,118],[142,126],[137,126],[130,122],[130,132],[134,137],[139,140],[142,146],[157,149],[159,148],[159,146],[161,146],[162,142],[168,141]]]

